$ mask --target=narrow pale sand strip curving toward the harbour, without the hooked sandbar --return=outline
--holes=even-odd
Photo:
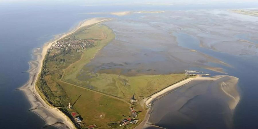
[[[194,78],[188,78],[182,81],[179,81],[173,85],[170,85],[164,89],[162,89],[161,91],[158,91],[157,93],[154,93],[153,95],[150,95],[149,97],[146,97],[144,99],[142,99],[142,104],[141,106],[144,107],[148,107],[147,109],[147,113],[145,115],[144,120],[142,120],[142,122],[136,126],[134,129],[142,129],[144,127],[145,124],[147,124],[146,122],[148,122],[149,118],[150,118],[150,114],[152,112],[152,105],[153,103],[162,98],[163,96],[167,95],[168,93],[173,92],[174,90],[176,90],[177,88],[182,87],[183,85],[189,83],[190,81],[194,81],[194,80],[201,80],[201,81],[215,81],[217,79],[220,79],[222,77],[233,77],[233,76],[228,76],[228,75],[218,75],[218,76],[214,76],[214,77],[201,77],[201,76],[197,76]],[[233,77],[234,79],[237,79],[237,77]],[[225,91],[224,91],[225,92]],[[226,92],[225,92],[226,93]],[[151,103],[151,104],[150,104]]]

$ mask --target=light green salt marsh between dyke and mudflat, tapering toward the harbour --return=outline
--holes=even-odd
[[[80,71],[72,79],[64,77],[64,81],[121,98],[132,97],[134,93],[144,98],[185,78],[185,74],[127,77]]]

